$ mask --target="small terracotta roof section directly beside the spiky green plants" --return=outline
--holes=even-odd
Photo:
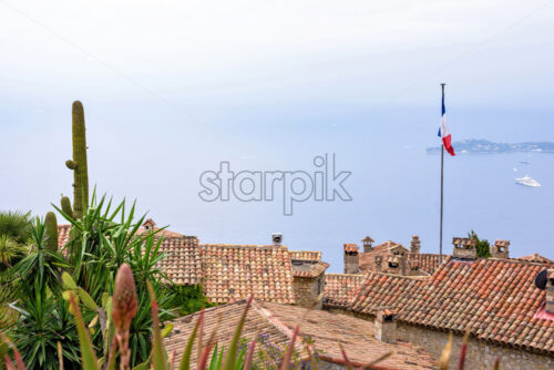
[[[198,239],[194,236],[164,237],[160,251],[165,257],[156,265],[178,285],[197,285],[202,281],[202,257]]]

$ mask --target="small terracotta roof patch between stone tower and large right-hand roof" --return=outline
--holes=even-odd
[[[363,275],[326,274],[324,306],[327,308],[348,307],[363,280]]]

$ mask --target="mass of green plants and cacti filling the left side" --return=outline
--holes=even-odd
[[[59,214],[71,224],[69,243],[58,245],[58,223],[50,212],[31,222],[30,214],[0,213],[0,332],[21,351],[29,369],[80,368],[76,310],[88,322],[91,343],[105,362],[112,340],[121,339],[112,310],[117,301],[116,273],[131,266],[136,281],[136,312],[125,338],[125,361],[136,366],[151,358],[151,298],[157,297],[156,320],[165,322],[178,311],[189,312],[207,305],[198,287],[177,288],[156,267],[164,255],[162,238],[138,234],[144,217],[136,219],[135,205],[114,205],[105,196],[89,202],[86,141],[83,107],[73,103],[73,208],[62,197]],[[63,247],[63,248],[60,248]],[[134,282],[133,282],[134,284]],[[168,329],[167,329],[168,330]],[[0,348],[1,350],[1,348]],[[60,361],[60,358],[63,360]],[[3,368],[0,354],[0,368]]]

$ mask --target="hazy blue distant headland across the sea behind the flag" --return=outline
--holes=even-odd
[[[456,154],[470,153],[515,153],[515,152],[538,152],[554,153],[554,143],[551,142],[525,142],[525,143],[494,143],[483,138],[469,138],[452,144]],[[428,147],[427,154],[441,152],[440,146]]]

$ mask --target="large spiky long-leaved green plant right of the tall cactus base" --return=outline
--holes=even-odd
[[[68,216],[66,219],[72,224],[72,238],[68,243],[71,267],[68,273],[79,287],[89,292],[98,306],[102,306],[104,292],[113,295],[119,267],[124,263],[131,266],[138,295],[138,309],[130,332],[131,364],[146,361],[152,349],[152,314],[147,281],[157,297],[160,320],[164,322],[174,318],[173,292],[163,288],[170,281],[156,266],[164,257],[160,251],[162,238],[157,237],[158,232],[138,234],[144,216],[135,219],[134,204],[131,209],[126,209],[125,202],[114,207],[105,196],[96,199],[94,192],[90,207],[82,218]],[[86,314],[85,310],[84,315]],[[103,345],[99,332],[93,336],[93,342],[96,351],[101,352]]]

